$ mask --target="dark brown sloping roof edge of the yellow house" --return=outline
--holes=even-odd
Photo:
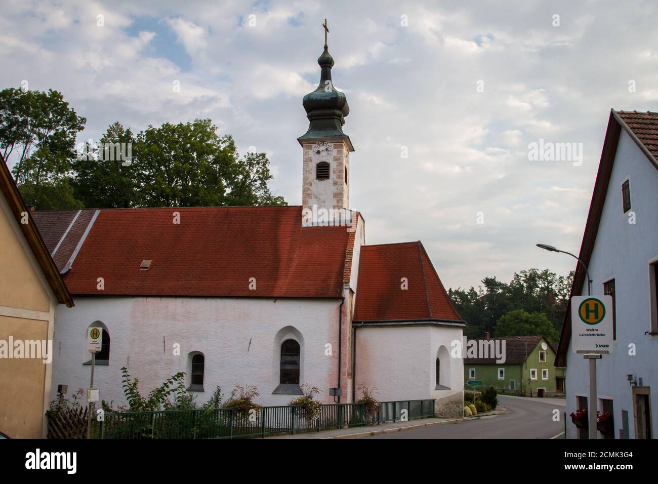
[[[25,240],[28,242],[30,249],[32,249],[32,254],[34,254],[34,257],[39,263],[43,276],[48,281],[57,301],[71,308],[74,306],[73,299],[55,266],[53,258],[50,256],[49,250],[41,238],[41,234],[39,234],[38,227],[32,217],[34,213],[30,212],[26,207],[2,155],[0,155],[0,191],[5,196],[9,209],[11,209],[18,223],[18,227],[20,227]],[[21,223],[23,213],[28,213],[28,223]]]

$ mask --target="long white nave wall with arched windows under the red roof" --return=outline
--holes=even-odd
[[[57,309],[59,321],[53,347],[53,398],[57,385],[69,394],[89,386],[86,329],[102,321],[109,331],[109,365],[97,365],[94,387],[101,399],[125,404],[121,367],[139,379],[143,394],[178,371],[188,372],[190,352],[205,356],[204,392],[207,400],[219,385],[224,401],[236,383],[256,385],[261,405],[285,405],[293,395],[272,394],[279,384],[280,342],[293,338],[301,346],[300,383],[323,390],[320,400],[330,403],[329,388],[338,375],[338,306],[340,300],[257,298],[131,298],[78,297],[74,308]],[[349,323],[343,321],[344,325]],[[249,344],[251,340],[251,344]],[[173,345],[180,344],[180,356]],[[332,344],[326,356],[325,344]]]

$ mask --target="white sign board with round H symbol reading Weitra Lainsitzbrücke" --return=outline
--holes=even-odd
[[[578,354],[613,352],[612,296],[571,298],[571,347]]]

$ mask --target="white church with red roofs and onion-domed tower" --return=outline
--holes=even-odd
[[[205,402],[219,386],[255,385],[256,402],[286,405],[300,386],[323,403],[359,387],[380,401],[434,398],[463,414],[463,360],[451,357],[465,322],[420,242],[367,245],[349,205],[349,107],[332,84],[305,95],[302,205],[35,211],[75,302],[60,305],[57,385],[89,385],[89,327],[103,331],[94,387],[126,404],[121,367],[148,392],[179,371]],[[358,188],[357,188],[358,189]]]

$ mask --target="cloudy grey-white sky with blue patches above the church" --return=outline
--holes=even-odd
[[[421,240],[445,286],[573,269],[534,244],[578,252],[609,110],[658,110],[652,1],[115,3],[3,0],[0,88],[63,92],[80,140],[209,117],[297,205],[328,17],[351,207],[368,244]],[[540,139],[582,163],[530,161]]]

